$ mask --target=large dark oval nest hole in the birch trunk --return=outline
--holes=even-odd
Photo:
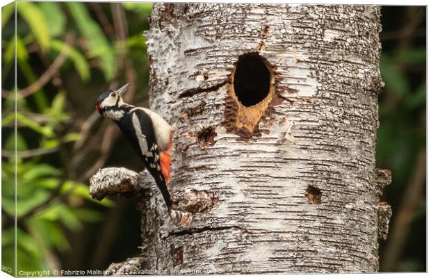
[[[270,92],[271,72],[259,54],[239,56],[234,74],[234,90],[238,101],[250,107],[265,99]]]

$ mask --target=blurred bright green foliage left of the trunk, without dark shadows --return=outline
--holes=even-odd
[[[11,269],[15,263],[15,214],[19,227],[17,268],[49,270],[56,266],[52,261],[58,261],[59,254],[72,251],[73,242],[67,234],[86,234],[88,223],[103,220],[101,211],[114,205],[109,199],[99,202],[90,198],[86,181],[78,180],[76,174],[70,174],[58,161],[79,156],[72,146],[86,138],[86,134],[81,133],[81,122],[76,121],[76,114],[81,116],[83,110],[76,113],[71,109],[74,95],[82,95],[76,88],[86,88],[89,81],[108,84],[114,77],[121,76],[124,73],[117,72],[117,59],[124,56],[139,63],[144,72],[139,72],[140,75],[147,75],[142,31],[147,26],[146,18],[152,4],[122,3],[127,17],[135,17],[139,23],[133,26],[133,31],[129,30],[130,38],[125,41],[111,40],[115,33],[106,32],[106,22],[101,22],[91,7],[91,4],[79,2],[19,1],[16,35],[3,32],[3,90],[15,90],[10,82],[15,71],[15,51],[18,73],[17,113],[14,113],[13,96],[3,98],[1,120],[5,134],[1,165],[2,260],[3,265]],[[112,28],[111,4],[100,7]],[[2,8],[3,31],[15,26],[14,12],[15,3]],[[28,88],[47,74],[59,56],[65,56],[64,63],[60,63],[54,74],[48,72],[49,78],[40,88],[29,92]],[[76,76],[72,89],[67,83],[70,76]],[[22,97],[24,88],[26,97]],[[13,157],[15,147],[16,158]],[[81,171],[86,172],[86,169]]]

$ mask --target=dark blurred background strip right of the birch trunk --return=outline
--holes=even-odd
[[[426,270],[426,8],[383,6],[377,167],[392,171],[380,270]]]

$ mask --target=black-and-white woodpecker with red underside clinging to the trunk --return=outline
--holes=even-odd
[[[170,211],[172,200],[166,183],[170,181],[174,126],[147,108],[124,103],[122,95],[127,87],[129,83],[118,90],[102,93],[96,101],[96,110],[120,127],[145,168],[154,177]]]

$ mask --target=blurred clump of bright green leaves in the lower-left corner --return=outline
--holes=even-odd
[[[19,135],[18,138],[22,140],[22,136]],[[15,214],[14,163],[13,159],[2,163],[2,209],[8,215]],[[44,262],[46,256],[40,250],[45,250],[46,254],[51,248],[56,248],[59,252],[70,250],[70,243],[65,238],[63,229],[80,231],[83,229],[83,222],[101,220],[101,215],[97,211],[73,208],[68,205],[76,198],[95,201],[90,199],[86,184],[72,180],[63,181],[62,175],[60,169],[49,164],[31,161],[20,161],[17,164],[16,215],[19,223],[24,224],[25,227],[31,227],[28,231],[19,231],[17,252],[22,255],[19,257],[18,265],[22,265],[19,270],[47,269]],[[95,203],[104,206],[113,205],[113,202],[108,199]],[[11,232],[13,229],[6,231],[6,233],[3,232],[2,248],[3,253],[8,254],[8,250],[13,252],[13,249],[8,249],[11,247],[11,236],[8,231]],[[33,234],[43,240],[33,239],[35,236]],[[37,252],[34,252],[35,250]]]

